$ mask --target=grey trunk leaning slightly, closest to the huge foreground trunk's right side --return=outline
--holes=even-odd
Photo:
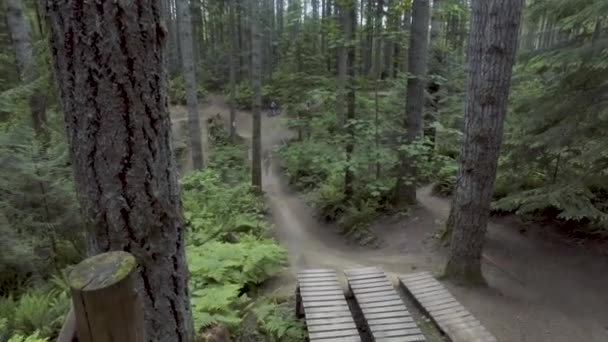
[[[186,101],[188,104],[188,132],[192,167],[202,169],[204,165],[203,143],[206,137],[205,123],[201,124],[198,112],[196,69],[194,67],[194,47],[192,44],[192,20],[188,0],[176,0],[177,20],[179,22],[179,39],[182,55],[182,73],[186,83]],[[203,127],[201,127],[203,126]],[[203,128],[203,129],[201,129]],[[201,135],[203,138],[201,139]],[[205,144],[206,147],[206,144]]]

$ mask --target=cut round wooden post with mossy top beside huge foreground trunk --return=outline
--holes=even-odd
[[[121,251],[88,258],[72,270],[69,284],[79,342],[144,342],[136,275],[135,258]]]

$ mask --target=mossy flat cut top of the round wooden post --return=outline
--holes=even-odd
[[[70,273],[70,287],[80,291],[95,291],[110,287],[129,276],[137,263],[123,251],[99,254],[82,261]]]

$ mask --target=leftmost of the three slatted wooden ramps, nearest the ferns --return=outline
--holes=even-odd
[[[361,342],[334,270],[298,273],[296,312],[304,315],[311,342]]]

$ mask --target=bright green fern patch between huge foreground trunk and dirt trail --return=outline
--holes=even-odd
[[[243,146],[221,144],[214,147],[205,170],[182,180],[198,331],[221,324],[238,335],[244,318],[256,307],[256,289],[287,262],[285,249],[269,238],[267,208],[252,191],[245,158]],[[263,329],[262,323],[258,325]]]

